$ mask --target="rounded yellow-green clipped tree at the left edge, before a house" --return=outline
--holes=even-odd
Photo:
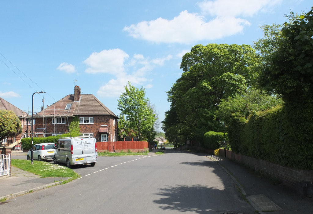
[[[13,111],[0,110],[0,142],[22,133],[21,122]]]

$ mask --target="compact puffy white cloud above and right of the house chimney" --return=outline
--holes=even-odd
[[[129,55],[121,49],[103,50],[101,52],[93,52],[84,63],[89,66],[85,70],[86,73],[123,73],[124,61]]]

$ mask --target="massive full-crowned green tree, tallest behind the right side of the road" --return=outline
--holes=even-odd
[[[163,121],[167,137],[200,142],[205,132],[220,131],[214,112],[222,98],[242,94],[255,77],[258,55],[249,45],[196,45],[182,58],[182,77],[168,93],[171,108]]]

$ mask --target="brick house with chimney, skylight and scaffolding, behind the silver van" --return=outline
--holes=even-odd
[[[80,121],[81,136],[97,141],[117,141],[117,116],[92,94],[81,94],[74,87],[69,94],[33,116],[37,137],[56,136],[69,132],[74,117]]]

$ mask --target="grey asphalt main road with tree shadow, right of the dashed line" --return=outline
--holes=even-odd
[[[255,213],[228,174],[201,154],[98,157],[81,178],[8,200],[2,213]]]

